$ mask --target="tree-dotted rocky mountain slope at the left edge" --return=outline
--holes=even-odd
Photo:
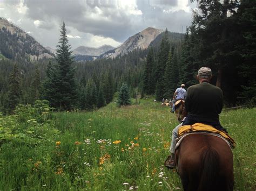
[[[53,54],[39,44],[33,37],[0,17],[0,54],[8,59],[38,60],[52,58]]]

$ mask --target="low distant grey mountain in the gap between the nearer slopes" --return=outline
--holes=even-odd
[[[73,54],[99,56],[111,49],[114,49],[114,47],[110,45],[103,45],[98,48],[80,46],[73,50]]]

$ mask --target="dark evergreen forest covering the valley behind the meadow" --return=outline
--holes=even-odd
[[[255,104],[256,2],[197,2],[185,34],[166,29],[147,49],[113,59],[75,61],[64,23],[55,58],[29,59],[25,51],[38,52],[28,41],[16,49],[1,43],[0,112],[11,114],[18,104],[36,100],[48,100],[56,110],[94,110],[117,101],[122,84],[133,98],[170,99],[181,83],[198,83],[200,67],[212,69],[211,83],[223,90],[227,106]],[[17,34],[3,28],[0,38],[8,42]]]

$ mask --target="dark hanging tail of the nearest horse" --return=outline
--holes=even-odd
[[[209,147],[201,155],[202,168],[198,190],[217,190],[217,179],[219,178],[220,158],[217,151]]]

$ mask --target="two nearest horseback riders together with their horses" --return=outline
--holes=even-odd
[[[177,88],[171,112],[180,124],[172,131],[164,165],[176,168],[184,190],[233,190],[234,140],[219,122],[223,91],[210,84],[212,71],[198,70],[199,84]]]

